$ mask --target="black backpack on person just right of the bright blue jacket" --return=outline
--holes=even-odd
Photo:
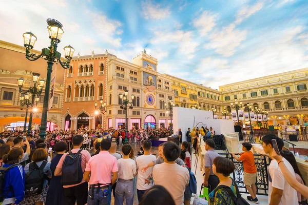
[[[40,167],[38,167],[35,162],[29,164],[29,172],[25,177],[25,196],[42,193],[44,181],[46,179],[43,169],[46,164],[47,161],[43,161]]]

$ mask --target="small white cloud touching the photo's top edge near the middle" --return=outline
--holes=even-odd
[[[144,18],[164,19],[170,15],[170,9],[161,8],[160,4],[152,4],[150,0],[142,2],[142,15]]]

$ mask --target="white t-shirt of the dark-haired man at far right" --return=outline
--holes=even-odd
[[[285,158],[282,160],[288,171],[290,171],[295,178],[295,172],[291,164]],[[269,164],[268,175],[268,204],[271,202],[271,195],[274,187],[283,190],[279,205],[298,205],[296,190],[286,181],[276,160],[272,160]]]

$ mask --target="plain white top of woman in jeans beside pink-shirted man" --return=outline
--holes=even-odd
[[[129,180],[134,178],[134,174],[137,171],[136,161],[133,159],[118,159],[118,178]]]

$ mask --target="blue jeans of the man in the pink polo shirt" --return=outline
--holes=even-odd
[[[105,196],[104,196],[104,192]],[[97,193],[97,187],[94,188],[92,195],[92,187],[89,189],[88,205],[110,205],[111,202],[111,186],[109,188],[101,188]]]

